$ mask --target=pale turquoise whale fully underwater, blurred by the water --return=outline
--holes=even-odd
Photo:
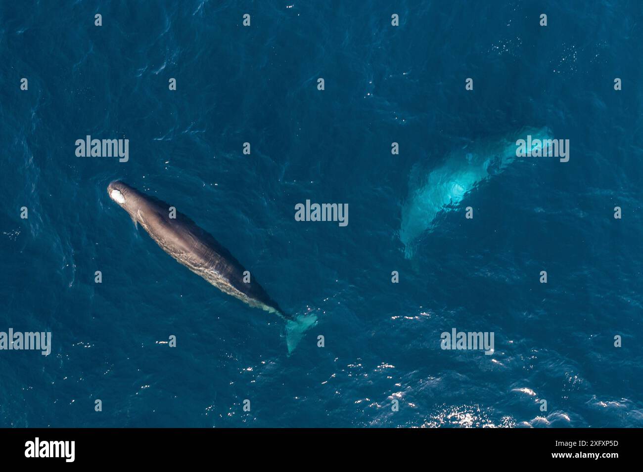
[[[416,179],[419,182],[413,188],[410,184],[399,231],[407,259],[412,257],[417,239],[425,231],[433,231],[440,211],[448,211],[477,184],[505,170],[516,159],[516,141],[526,139],[527,135],[534,139],[532,150],[552,139],[547,127],[524,128],[500,139],[470,144],[449,153],[438,168]]]

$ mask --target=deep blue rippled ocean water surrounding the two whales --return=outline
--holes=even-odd
[[[627,0],[2,1],[0,331],[52,345],[0,351],[0,426],[643,426],[642,28]],[[525,127],[570,160],[471,182],[406,257],[431,172]],[[129,161],[77,157],[86,135]],[[316,326],[288,355],[284,321],[159,249],[114,179]],[[349,224],[295,221],[307,199]],[[453,328],[494,353],[441,349]]]

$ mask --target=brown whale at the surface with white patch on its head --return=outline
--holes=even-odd
[[[314,315],[293,317],[285,313],[257,283],[255,277],[249,277],[249,281],[245,282],[246,269],[230,251],[178,211],[175,210],[172,214],[176,218],[170,218],[171,205],[120,181],[111,182],[107,186],[107,193],[127,211],[134,223],[140,224],[152,240],[176,261],[201,275],[222,292],[287,320],[289,351],[294,349],[303,331],[316,322]]]

